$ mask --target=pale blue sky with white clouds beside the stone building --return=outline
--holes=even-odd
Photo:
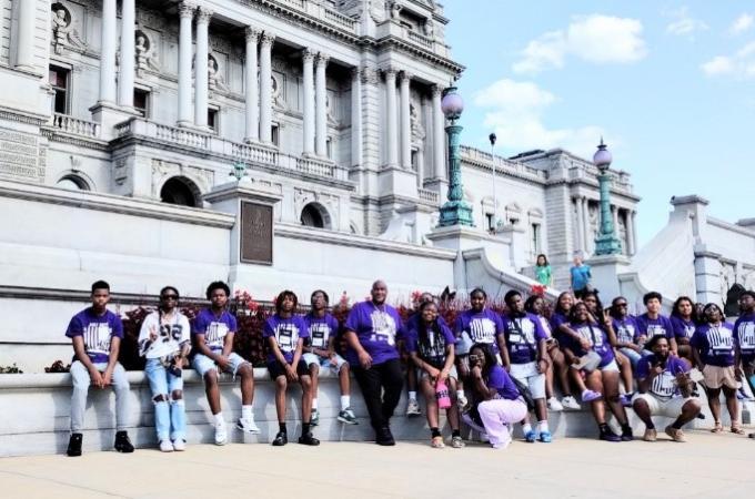
[[[466,65],[463,143],[512,155],[564,147],[613,166],[643,197],[640,243],[672,195],[712,216],[755,216],[755,2],[445,0]]]

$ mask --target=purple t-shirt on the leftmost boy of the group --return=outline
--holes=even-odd
[[[84,352],[93,364],[107,363],[110,359],[110,340],[123,338],[123,323],[110,310],[102,315],[94,314],[92,307],[84,308],[71,318],[66,329],[66,336],[73,338],[81,336],[84,340]],[[73,355],[73,360],[77,360]]]

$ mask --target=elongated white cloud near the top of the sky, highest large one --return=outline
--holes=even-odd
[[[568,55],[596,64],[636,62],[647,53],[636,19],[591,14],[572,18],[565,30],[548,31],[527,43],[515,73],[563,68]]]

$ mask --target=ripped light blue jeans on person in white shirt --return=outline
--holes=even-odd
[[[183,378],[175,377],[160,364],[159,358],[148,358],[144,367],[154,403],[154,428],[158,440],[187,439],[187,411],[183,404]],[[172,428],[172,431],[171,431]]]

